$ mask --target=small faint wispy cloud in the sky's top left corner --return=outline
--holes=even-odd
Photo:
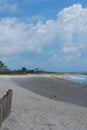
[[[9,3],[6,0],[0,0],[0,12],[16,12],[18,10],[17,3]]]

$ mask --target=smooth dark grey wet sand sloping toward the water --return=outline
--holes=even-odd
[[[54,77],[12,78],[17,85],[48,97],[49,99],[68,102],[87,107],[87,86]]]

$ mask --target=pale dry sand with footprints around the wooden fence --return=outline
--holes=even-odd
[[[12,111],[1,130],[87,130],[87,108],[47,99],[0,76],[0,97],[8,89],[13,89]]]

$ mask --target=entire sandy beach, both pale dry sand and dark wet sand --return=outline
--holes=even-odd
[[[0,76],[0,96],[9,88],[12,110],[1,130],[87,130],[86,87],[54,76]]]

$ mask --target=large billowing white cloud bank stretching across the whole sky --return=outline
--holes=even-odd
[[[73,57],[87,51],[87,9],[80,4],[65,8],[56,20],[40,20],[37,24],[21,22],[17,18],[0,19],[0,53],[17,54],[23,51],[40,53],[43,47],[60,46],[61,56]],[[56,47],[55,47],[56,48]],[[56,54],[56,55],[59,55]],[[71,56],[71,58],[72,58]],[[56,56],[57,58],[57,56]],[[69,58],[69,59],[71,59]]]

